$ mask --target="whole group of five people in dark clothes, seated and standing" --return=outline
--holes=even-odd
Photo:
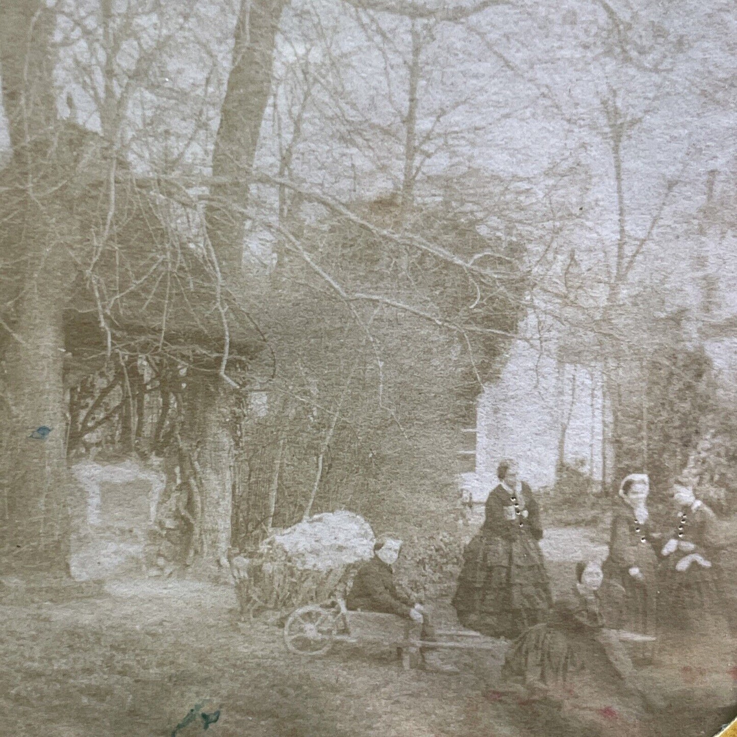
[[[499,483],[486,500],[481,529],[465,548],[453,598],[463,626],[511,640],[503,668],[507,681],[528,694],[556,688],[572,694],[575,682],[589,702],[611,702],[618,694],[619,708],[636,711],[646,691],[636,666],[652,666],[656,645],[657,657],[671,652],[679,667],[704,662],[719,649],[724,657],[731,643],[720,601],[724,541],[716,515],[691,486],[674,484],[670,528],[658,531],[648,509],[648,476],[627,476],[612,515],[607,559],[602,565],[579,562],[570,593],[553,601],[539,545],[539,507],[518,473],[514,461],[499,464]],[[422,640],[431,641],[427,610],[394,586],[399,545],[377,540],[374,559],[358,571],[346,604],[413,619],[422,623]],[[424,662],[432,670],[457,672],[433,651],[425,652]],[[577,674],[584,677],[576,681]]]

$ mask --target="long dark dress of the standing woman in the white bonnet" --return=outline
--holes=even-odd
[[[653,544],[649,523],[638,523],[635,511],[622,502],[612,517],[609,556],[601,566],[601,599],[607,627],[655,635],[657,555]],[[640,569],[643,581],[630,575],[632,567]]]

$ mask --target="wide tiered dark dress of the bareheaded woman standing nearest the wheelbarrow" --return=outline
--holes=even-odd
[[[517,510],[501,484],[489,493],[486,520],[464,551],[453,598],[461,624],[489,637],[514,639],[545,621],[553,605],[537,542],[539,507],[525,483],[515,498]]]

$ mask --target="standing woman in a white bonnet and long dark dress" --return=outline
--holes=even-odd
[[[619,488],[621,502],[612,517],[609,557],[604,562],[601,596],[604,618],[612,629],[655,635],[657,555],[647,509],[650,481],[633,473]],[[652,648],[641,648],[649,659]]]

